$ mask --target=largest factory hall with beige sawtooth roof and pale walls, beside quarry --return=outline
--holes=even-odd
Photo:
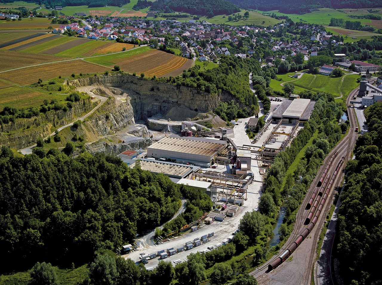
[[[226,141],[172,135],[147,147],[147,157],[209,167],[211,161],[226,147]]]

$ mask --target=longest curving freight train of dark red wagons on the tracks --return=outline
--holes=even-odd
[[[335,157],[335,155],[337,155],[337,152],[335,152],[335,154],[333,154],[333,156]],[[333,160],[330,159],[332,162]],[[327,188],[326,188],[326,191],[325,193],[322,195],[322,192],[324,190],[322,190],[322,192],[319,192],[318,196],[317,196],[317,199],[314,201],[314,204],[311,208],[311,211],[309,212],[308,214],[308,217],[306,218],[306,224],[307,227],[304,228],[304,230],[301,232],[301,234],[298,236],[298,238],[289,246],[288,249],[286,249],[280,256],[278,256],[274,261],[272,261],[270,264],[268,264],[268,271],[270,270],[273,270],[275,269],[277,266],[279,266],[280,264],[282,264],[292,253],[293,251],[296,250],[296,248],[302,243],[302,241],[309,235],[310,232],[312,232],[314,226],[316,225],[317,223],[317,220],[322,212],[322,208],[324,207],[324,204],[325,204],[325,201],[326,199],[328,198],[328,195],[329,195],[329,192],[330,192],[330,189],[332,188],[333,184],[334,184],[334,181],[335,181],[335,178],[337,177],[337,174],[341,168],[341,165],[343,164],[344,162],[344,157],[342,157],[342,159],[340,160],[340,162],[337,164],[337,167],[329,181],[329,184],[327,185]],[[329,165],[329,164],[328,164]],[[329,169],[329,168],[328,168]],[[325,173],[325,176],[326,176],[327,173]],[[324,176],[324,177],[325,177]],[[321,177],[322,178],[322,177]],[[318,189],[318,188],[317,188]],[[322,195],[322,198],[320,199],[320,193]],[[313,195],[312,195],[313,196]],[[314,195],[316,196],[316,194]],[[312,199],[312,198],[311,198]],[[310,201],[310,200],[309,200]],[[319,201],[319,202],[318,202]],[[312,205],[312,204],[311,204]],[[318,205],[318,207],[317,207]],[[316,207],[317,207],[317,210],[316,210]],[[313,216],[314,215],[314,216]],[[313,217],[313,219],[312,219]],[[312,220],[311,220],[312,219]]]

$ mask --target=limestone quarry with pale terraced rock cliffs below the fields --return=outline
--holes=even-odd
[[[38,137],[45,138],[55,128],[90,112],[80,128],[68,125],[60,131],[63,141],[70,141],[76,132],[84,138],[87,151],[116,155],[127,149],[144,149],[166,133],[179,133],[184,120],[197,118],[196,123],[225,126],[225,121],[212,112],[221,101],[235,100],[224,92],[213,96],[190,87],[118,73],[75,79],[66,84],[91,97],[77,102],[68,112],[50,114],[45,119],[51,123],[33,130],[26,131],[26,125],[34,123],[36,118],[2,126],[2,131],[8,134],[0,135],[0,144],[23,149],[36,143]],[[104,99],[99,102],[95,97]],[[101,104],[100,107],[91,111],[97,104]],[[18,132],[20,129],[23,131]]]

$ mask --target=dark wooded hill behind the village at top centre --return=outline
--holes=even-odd
[[[162,10],[165,13],[173,11],[213,17],[230,15],[240,11],[240,8],[224,0],[157,0],[151,5],[152,10]]]

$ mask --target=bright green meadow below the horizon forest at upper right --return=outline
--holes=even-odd
[[[376,8],[373,8],[374,10]],[[283,14],[279,13],[277,10],[262,12],[259,11],[262,14],[272,14],[275,13],[277,16],[288,16],[293,21],[305,21],[310,24],[321,24],[324,26],[329,25],[331,18],[337,18],[337,19],[344,19],[345,21],[360,21],[362,25],[372,25],[372,22],[370,19],[357,19],[357,18],[350,18],[350,15],[361,15],[361,14],[354,14],[354,11],[356,9],[348,9],[352,12],[341,12],[340,10],[330,9],[330,8],[320,8],[317,11],[313,11],[311,13],[306,13],[304,15],[297,15],[297,14]],[[366,13],[363,12],[362,15],[368,15],[370,14],[367,9]],[[376,13],[374,13],[376,14]]]

